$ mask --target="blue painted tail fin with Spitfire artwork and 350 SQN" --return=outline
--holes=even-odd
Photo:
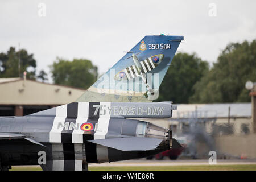
[[[151,102],[183,36],[145,36],[77,102]]]

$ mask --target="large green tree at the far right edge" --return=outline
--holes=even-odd
[[[256,40],[230,43],[218,56],[217,63],[193,86],[191,102],[249,102],[247,80],[256,81]]]

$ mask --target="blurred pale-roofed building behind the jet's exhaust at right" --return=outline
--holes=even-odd
[[[218,151],[217,156],[256,159],[252,111],[251,103],[177,104],[177,110],[174,110],[172,118],[147,121],[171,128],[174,134],[180,131],[186,134],[186,131],[197,123],[194,125],[196,128],[203,126],[200,129],[212,137],[215,143],[214,150]],[[193,143],[196,141],[193,140]],[[202,143],[196,144],[197,155],[205,158],[205,154],[208,157],[210,150]]]

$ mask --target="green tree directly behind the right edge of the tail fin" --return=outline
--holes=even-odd
[[[177,53],[159,89],[159,101],[188,103],[193,85],[209,70],[207,61],[195,53]]]

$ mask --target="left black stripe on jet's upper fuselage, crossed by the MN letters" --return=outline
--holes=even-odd
[[[69,122],[68,126],[71,126],[71,123],[76,124],[77,118],[77,110],[78,110],[78,102],[73,102],[68,104],[67,106],[67,118],[65,119],[65,123]],[[72,132],[71,130],[65,130],[65,128],[61,131],[61,143],[72,143]]]

